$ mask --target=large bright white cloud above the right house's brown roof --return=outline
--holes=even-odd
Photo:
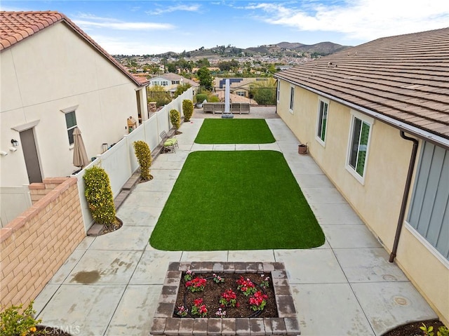
[[[448,27],[449,1],[348,0],[262,3],[246,6],[264,13],[259,20],[308,32],[340,32],[351,39],[373,40]]]

